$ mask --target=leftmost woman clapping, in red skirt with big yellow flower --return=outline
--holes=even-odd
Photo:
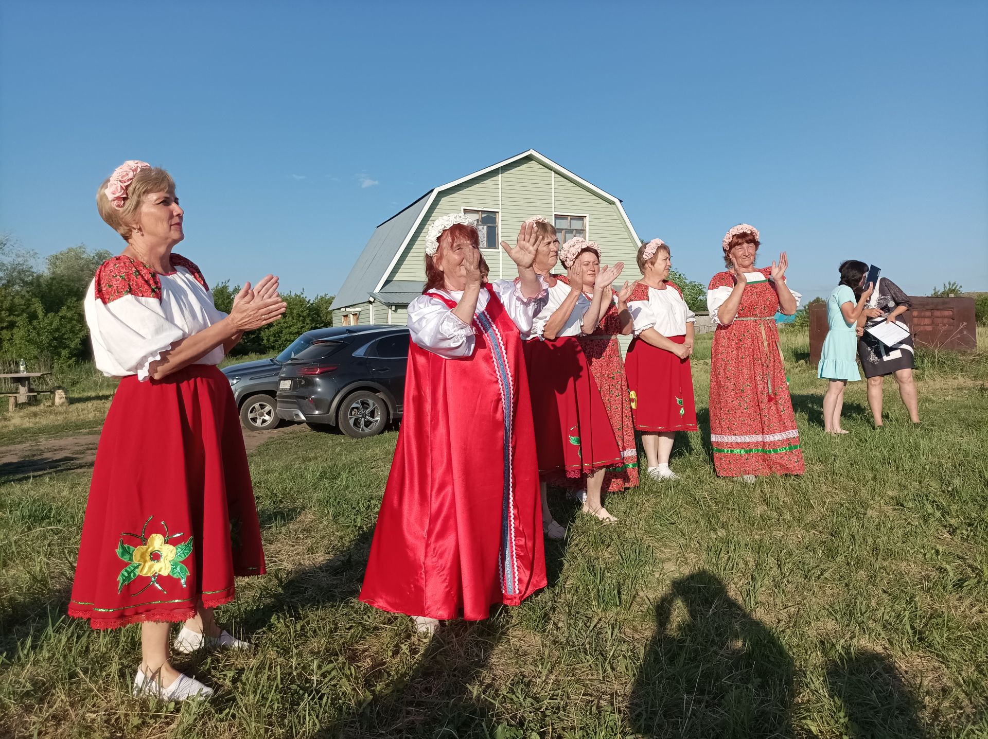
[[[120,377],[100,436],[70,616],[93,628],[141,622],[134,695],[205,698],[212,691],[169,662],[175,648],[250,646],[216,625],[234,575],[265,571],[247,454],[229,382],[216,365],[245,331],[278,320],[278,278],[247,284],[229,315],[199,268],[172,253],[184,237],[175,183],[124,162],[96,196],[126,241],[86,293],[96,367]]]

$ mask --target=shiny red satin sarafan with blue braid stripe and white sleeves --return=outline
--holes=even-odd
[[[408,306],[405,411],[361,600],[397,614],[480,620],[545,586],[541,505],[522,333],[545,296],[514,283]]]

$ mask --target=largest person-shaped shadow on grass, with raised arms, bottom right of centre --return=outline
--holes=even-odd
[[[761,621],[700,571],[673,582],[628,713],[648,737],[786,737],[793,662]]]

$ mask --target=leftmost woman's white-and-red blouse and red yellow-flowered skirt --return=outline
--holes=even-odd
[[[114,257],[85,298],[96,367],[121,377],[93,467],[69,616],[94,628],[178,621],[234,595],[234,575],[265,571],[240,419],[217,347],[155,380],[173,342],[226,314],[199,268]]]

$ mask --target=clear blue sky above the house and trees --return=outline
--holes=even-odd
[[[175,176],[210,282],[334,292],[373,227],[535,148],[705,283],[720,239],[988,289],[988,4],[0,0],[0,231],[119,251],[96,188]]]

